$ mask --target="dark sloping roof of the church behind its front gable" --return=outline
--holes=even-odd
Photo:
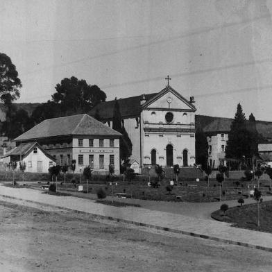
[[[145,94],[146,101],[150,100],[153,96],[155,96],[158,93],[153,94]],[[131,96],[126,99],[118,99],[119,108],[121,117],[123,118],[129,118],[129,117],[137,117],[139,116],[141,112],[141,100],[142,95],[138,96]],[[96,111],[99,113],[99,117],[103,121],[107,121],[112,119],[113,117],[113,110],[116,100],[108,101],[108,102],[102,102],[99,103],[99,105],[96,105],[88,114],[91,116],[94,116],[96,114]]]

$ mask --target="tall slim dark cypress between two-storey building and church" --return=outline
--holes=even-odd
[[[132,154],[133,144],[128,137],[126,129],[124,126],[122,126],[121,112],[118,101],[115,101],[114,103],[112,129],[118,131],[122,135],[120,138],[120,160],[126,162]]]

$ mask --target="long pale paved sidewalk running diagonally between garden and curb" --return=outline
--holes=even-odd
[[[168,230],[184,235],[269,250],[272,252],[272,235],[270,233],[233,228],[228,223],[212,221],[210,219],[199,219],[182,214],[147,210],[142,207],[112,207],[94,203],[94,201],[84,198],[51,196],[42,194],[40,191],[33,189],[10,188],[1,185],[0,195],[6,199],[6,201],[8,201],[9,198],[19,198],[24,201],[85,212],[102,219],[133,223],[138,226]],[[189,205],[191,203],[187,204]]]

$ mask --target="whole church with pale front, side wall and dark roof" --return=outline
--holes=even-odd
[[[196,108],[193,98],[188,101],[167,85],[155,94],[100,103],[90,114],[99,114],[101,121],[112,126],[116,102],[133,143],[131,163],[139,164],[139,169],[155,164],[194,166]]]

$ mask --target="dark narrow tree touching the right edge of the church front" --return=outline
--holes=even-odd
[[[202,128],[196,130],[196,164],[201,164],[201,168],[205,171],[207,168],[208,157],[207,137]]]

